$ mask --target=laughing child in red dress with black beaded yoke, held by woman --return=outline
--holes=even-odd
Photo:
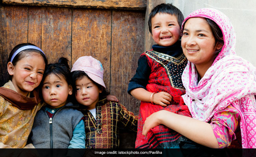
[[[147,137],[142,135],[146,118],[159,110],[168,110],[191,117],[181,95],[182,72],[187,59],[182,52],[180,37],[184,16],[172,4],[154,7],[148,18],[148,28],[156,45],[143,53],[138,68],[130,80],[128,93],[141,100],[135,148],[179,148],[187,138],[166,126],[156,126]]]

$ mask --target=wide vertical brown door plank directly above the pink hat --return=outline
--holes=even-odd
[[[111,10],[73,9],[72,64],[82,56],[102,63],[104,83],[109,89],[111,53]]]

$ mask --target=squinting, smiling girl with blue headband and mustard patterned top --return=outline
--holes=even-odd
[[[45,54],[33,44],[19,44],[11,50],[7,60],[10,80],[0,88],[0,148],[33,148],[26,142],[42,106],[34,89],[46,65]]]

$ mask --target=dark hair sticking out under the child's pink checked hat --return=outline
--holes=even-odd
[[[72,75],[72,87],[75,90],[75,92],[73,92],[73,97],[75,97],[75,94],[77,92],[76,91],[76,80],[82,79],[83,77],[87,77],[88,79],[90,79],[93,83],[96,84],[96,86],[98,86],[99,89],[102,90],[102,93],[99,94],[99,100],[102,100],[102,99],[106,98],[107,95],[109,95],[108,91],[106,91],[106,88],[104,88],[103,86],[101,86],[100,84],[98,84],[97,82],[92,80],[84,71],[72,71],[71,75]]]

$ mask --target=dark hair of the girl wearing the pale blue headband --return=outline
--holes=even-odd
[[[15,53],[15,51],[17,51],[17,49],[19,49],[20,47],[23,47],[23,46],[35,46],[34,44],[31,44],[31,43],[22,43],[22,44],[18,44],[16,45],[15,47],[13,47],[13,49],[11,50],[11,53],[9,54],[9,58],[7,60],[7,64],[8,62],[11,61],[11,57],[13,56],[13,53]],[[19,60],[21,60],[22,58],[24,57],[27,57],[29,56],[31,53],[39,53],[43,58],[44,58],[44,61],[45,61],[45,68],[46,68],[46,65],[48,64],[48,61],[47,61],[47,58],[45,57],[45,55],[37,50],[37,49],[25,49],[23,51],[21,51],[20,53],[18,53],[14,58],[13,58],[13,61],[12,61],[12,64],[13,66],[15,66],[17,64],[17,62]],[[11,80],[11,76],[9,76],[9,79]]]

